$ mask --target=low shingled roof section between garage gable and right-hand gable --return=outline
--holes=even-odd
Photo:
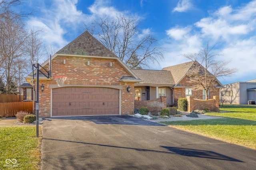
[[[175,84],[172,74],[168,70],[143,70],[143,69],[131,69],[143,82],[143,85],[168,85],[173,86]]]

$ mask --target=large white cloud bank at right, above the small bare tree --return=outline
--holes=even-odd
[[[179,1],[180,3],[180,1]],[[231,61],[228,67],[237,68],[231,78],[220,79],[223,84],[255,79],[256,72],[256,0],[233,9],[224,6],[202,18],[194,25],[175,26],[166,31],[170,40],[164,43],[164,66],[187,62],[180,54],[198,52],[207,42],[218,43],[214,48],[217,60]],[[254,77],[253,77],[254,76]]]

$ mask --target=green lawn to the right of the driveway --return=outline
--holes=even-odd
[[[256,149],[256,106],[224,105],[220,111],[206,113],[222,119],[161,122],[171,127],[204,135],[228,143]]]

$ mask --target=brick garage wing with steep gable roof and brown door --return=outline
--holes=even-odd
[[[49,61],[42,66],[48,69]],[[134,113],[134,84],[142,80],[87,31],[52,56],[51,73],[50,79],[39,74],[40,117]],[[55,76],[67,77],[64,86]]]

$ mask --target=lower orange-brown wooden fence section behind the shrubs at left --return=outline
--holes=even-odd
[[[0,103],[0,117],[15,117],[18,111],[33,113],[33,102]]]

